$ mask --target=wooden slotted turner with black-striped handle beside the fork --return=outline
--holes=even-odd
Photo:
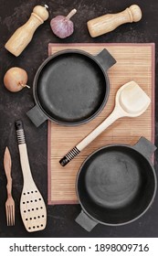
[[[16,135],[24,178],[24,185],[20,198],[20,212],[26,230],[28,232],[34,232],[45,229],[47,223],[47,210],[44,199],[37,189],[31,175],[25,133],[21,121],[16,122]]]

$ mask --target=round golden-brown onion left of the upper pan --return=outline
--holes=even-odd
[[[21,91],[27,86],[27,80],[28,77],[25,69],[17,67],[8,69],[4,77],[5,88],[12,92]]]

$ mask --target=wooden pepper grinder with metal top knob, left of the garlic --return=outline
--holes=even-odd
[[[16,29],[16,32],[6,42],[5,48],[16,57],[19,56],[31,41],[37,27],[48,18],[47,5],[37,5],[26,24]]]

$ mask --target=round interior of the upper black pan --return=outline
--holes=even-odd
[[[65,53],[50,59],[37,78],[37,101],[50,118],[78,123],[104,105],[106,79],[88,56]]]

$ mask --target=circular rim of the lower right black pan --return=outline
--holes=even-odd
[[[123,225],[126,225],[126,224],[129,224],[129,223],[132,223],[133,221],[137,220],[137,219],[140,219],[142,217],[142,215],[152,206],[153,204],[153,200],[154,200],[154,197],[156,196],[156,190],[157,190],[157,177],[156,177],[156,174],[155,174],[155,170],[154,170],[154,167],[153,165],[151,164],[150,160],[148,160],[148,158],[146,158],[144,155],[142,155],[142,157],[148,162],[148,164],[151,166],[151,169],[153,171],[153,177],[154,177],[154,191],[153,191],[153,197],[149,203],[149,205],[142,211],[141,214],[139,214],[136,218],[133,218],[129,221],[124,221],[124,222],[121,222],[121,223],[109,223],[109,222],[103,222],[103,221],[100,221],[99,219],[95,219],[94,217],[92,217],[90,215],[90,213],[86,210],[86,208],[83,207],[81,201],[80,201],[80,198],[79,198],[79,191],[78,191],[78,181],[79,181],[79,175],[80,175],[80,172],[83,168],[83,166],[86,164],[86,162],[90,159],[90,157],[92,155],[95,155],[96,153],[98,153],[99,151],[103,150],[103,149],[106,149],[106,148],[112,148],[112,147],[116,147],[116,146],[120,146],[120,147],[123,147],[123,148],[130,148],[132,149],[133,151],[137,152],[138,154],[142,155],[139,151],[135,150],[131,145],[128,145],[128,144],[110,144],[110,145],[106,145],[106,146],[102,146],[100,147],[99,149],[95,150],[94,152],[92,152],[84,161],[83,163],[80,165],[79,167],[79,171],[78,171],[78,174],[77,174],[77,177],[76,177],[76,193],[77,193],[77,197],[79,199],[79,204],[83,210],[83,212],[85,212],[89,217],[90,219],[93,219],[94,221],[96,221],[97,223],[100,223],[100,224],[103,224],[103,225],[106,225],[106,226],[123,226]]]

